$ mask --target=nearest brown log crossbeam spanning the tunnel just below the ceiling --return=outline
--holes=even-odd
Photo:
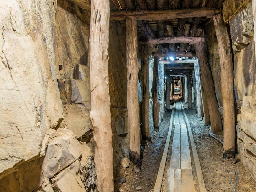
[[[125,0],[131,1],[131,0]],[[127,3],[126,3],[127,5]],[[129,6],[127,5],[129,8]],[[130,8],[129,8],[130,9]],[[114,11],[110,13],[110,21],[124,21],[129,16],[134,16],[138,20],[170,20],[177,18],[206,17],[210,18],[219,14],[219,10],[211,8],[154,10],[154,11]]]

